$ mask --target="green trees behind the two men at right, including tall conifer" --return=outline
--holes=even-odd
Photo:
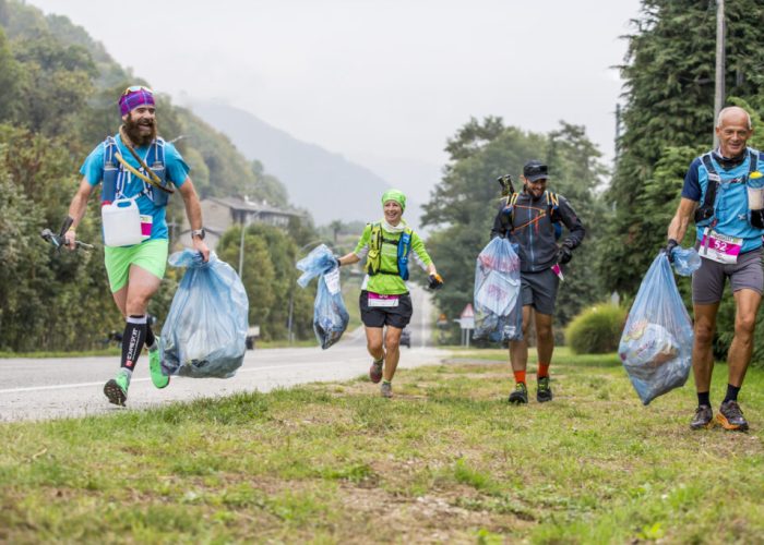
[[[764,4],[741,0],[726,5],[727,105],[744,107],[754,126],[764,131]],[[523,164],[533,158],[547,161],[550,190],[570,199],[587,229],[561,286],[558,325],[613,291],[625,304],[633,300],[666,244],[691,160],[712,145],[716,4],[643,0],[632,31],[624,36],[624,113],[610,177],[584,128],[564,121],[559,130],[538,134],[506,126],[498,118],[470,120],[449,140],[450,160],[423,218],[435,228],[429,247],[446,276],[437,299],[449,317],[471,301],[475,257],[488,242],[498,209],[496,178],[511,173],[517,179]],[[762,134],[749,144],[762,149]],[[683,245],[693,241],[691,230]],[[689,279],[679,279],[679,286],[691,305]],[[733,335],[733,311],[732,299],[726,298],[718,318],[718,358],[726,356]],[[754,361],[762,364],[762,313],[755,342]]]

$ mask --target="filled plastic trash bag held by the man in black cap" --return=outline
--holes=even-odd
[[[475,339],[494,342],[523,338],[520,257],[508,239],[496,238],[475,265]]]

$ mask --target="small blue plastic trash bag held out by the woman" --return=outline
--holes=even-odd
[[[332,251],[325,244],[313,249],[297,262],[302,275],[297,279],[301,288],[314,277],[319,277],[319,289],[313,303],[313,331],[321,348],[326,350],[339,340],[347,329],[350,316],[339,289],[339,269]]]

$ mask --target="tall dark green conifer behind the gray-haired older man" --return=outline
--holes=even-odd
[[[760,0],[726,4],[727,96],[754,106],[761,104],[764,83],[762,21]],[[695,153],[712,145],[716,3],[643,0],[642,13],[633,24],[635,33],[626,36],[629,49],[621,66],[624,131],[607,193],[614,216],[600,266],[606,286],[628,295],[635,292],[665,242],[671,213],[660,205],[670,202],[676,207],[681,191],[681,183],[672,183],[670,194],[665,189],[647,191],[656,182],[656,166],[661,158],[671,157],[682,161],[679,172],[683,172]],[[653,198],[656,194],[660,202]]]

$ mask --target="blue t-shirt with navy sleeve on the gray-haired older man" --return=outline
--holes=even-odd
[[[740,237],[743,239],[742,252],[755,250],[762,245],[762,234],[764,230],[751,226],[748,220],[748,174],[750,171],[751,157],[749,150],[759,156],[759,168],[764,165],[764,155],[751,148],[745,149],[745,160],[725,170],[712,156],[712,162],[716,173],[721,178],[721,183],[716,192],[716,203],[714,203],[714,214],[717,220],[714,229],[717,232],[729,237]],[[708,170],[701,157],[696,157],[684,175],[682,186],[682,197],[703,203],[708,191]],[[703,239],[703,231],[699,226],[697,240]]]

